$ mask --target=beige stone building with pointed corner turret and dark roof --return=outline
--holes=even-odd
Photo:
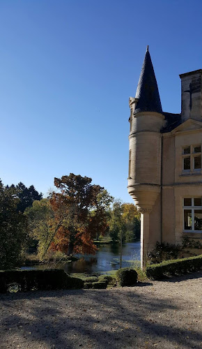
[[[128,192],[141,211],[141,264],[156,242],[202,242],[202,69],[181,74],[182,110],[163,112],[148,48],[130,97]]]

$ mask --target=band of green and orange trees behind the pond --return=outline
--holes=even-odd
[[[140,215],[130,203],[115,200],[92,179],[70,173],[55,178],[56,191],[42,198],[34,186],[0,181],[0,269],[20,265],[30,248],[44,260],[60,251],[95,253],[94,239],[112,242],[140,237]]]

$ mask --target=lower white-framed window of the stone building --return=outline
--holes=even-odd
[[[202,232],[202,198],[185,198],[183,217],[184,230]]]

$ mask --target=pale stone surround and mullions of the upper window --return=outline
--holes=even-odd
[[[194,158],[199,157],[202,155],[202,151],[196,152],[194,149],[196,147],[201,147],[201,144],[191,144],[187,146],[182,147],[182,174],[197,174],[201,173],[202,168],[194,168]],[[190,148],[189,153],[185,153],[185,149]],[[201,147],[202,149],[202,147]],[[186,169],[184,168],[184,159],[189,158],[190,159],[190,168]],[[202,156],[201,156],[201,164],[202,164]]]

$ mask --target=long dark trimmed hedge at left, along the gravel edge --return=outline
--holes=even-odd
[[[7,292],[10,284],[17,284],[21,291],[84,287],[83,280],[68,276],[63,269],[0,271],[0,292]]]

